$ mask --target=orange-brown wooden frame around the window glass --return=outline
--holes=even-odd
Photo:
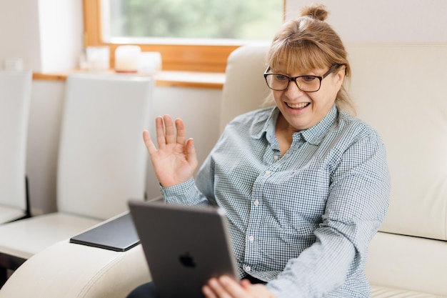
[[[114,67],[114,53],[120,44],[102,41],[101,0],[83,0],[84,46],[109,46],[110,65]],[[286,0],[283,0],[286,9]],[[283,14],[285,15],[285,14]],[[138,44],[141,51],[159,51],[164,70],[224,72],[228,55],[238,46]]]

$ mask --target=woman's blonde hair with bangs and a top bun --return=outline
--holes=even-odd
[[[346,81],[351,74],[348,54],[338,34],[324,21],[327,16],[326,6],[313,4],[306,6],[298,19],[283,24],[268,51],[268,65],[275,69],[286,61],[287,71],[300,69],[306,72],[340,64],[346,67]],[[344,84],[338,91],[335,103],[355,114]]]

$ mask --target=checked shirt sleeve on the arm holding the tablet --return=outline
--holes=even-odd
[[[323,297],[364,274],[367,247],[386,216],[390,178],[377,134],[354,142],[331,174],[316,242],[267,287],[276,298]]]

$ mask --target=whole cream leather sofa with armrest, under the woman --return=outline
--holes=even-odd
[[[266,96],[267,46],[228,59],[221,125]],[[348,45],[358,116],[383,137],[391,205],[369,249],[373,297],[447,297],[447,44]],[[125,297],[150,279],[141,247],[116,253],[61,242],[25,262],[0,298]]]

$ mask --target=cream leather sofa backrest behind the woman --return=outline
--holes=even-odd
[[[386,144],[391,204],[381,231],[447,240],[447,44],[348,44],[357,116]],[[228,58],[221,129],[261,106],[268,44]],[[267,92],[267,93],[266,93]]]

